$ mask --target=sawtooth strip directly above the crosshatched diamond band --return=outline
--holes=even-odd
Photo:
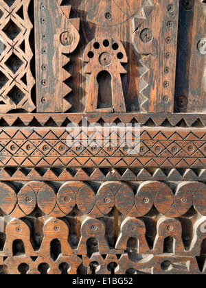
[[[196,114],[163,114],[163,113],[130,113],[126,115],[91,115],[91,114],[0,114],[1,127],[67,127],[68,123],[81,123],[83,118],[87,118],[90,123],[139,123],[140,125],[155,127],[197,127],[206,126],[206,115]]]

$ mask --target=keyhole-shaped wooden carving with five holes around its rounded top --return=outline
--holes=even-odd
[[[99,36],[84,50],[84,73],[90,74],[85,112],[126,113],[121,74],[128,62],[122,43],[112,37]]]

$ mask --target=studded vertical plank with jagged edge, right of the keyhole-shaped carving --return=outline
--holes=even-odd
[[[134,45],[141,54],[141,97],[148,97],[148,112],[173,112],[179,1],[159,0],[138,27]]]

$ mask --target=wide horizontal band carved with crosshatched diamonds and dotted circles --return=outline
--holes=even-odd
[[[80,128],[75,135],[71,133],[64,128],[5,128],[0,134],[0,165],[205,168],[203,128],[139,128],[137,135],[132,129],[130,141],[128,131],[120,135],[115,130],[109,137],[104,130]]]

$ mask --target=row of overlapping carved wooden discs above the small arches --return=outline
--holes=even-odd
[[[20,191],[10,183],[0,184],[1,211],[16,218],[30,215],[36,205],[50,217],[69,215],[76,205],[83,215],[95,218],[108,215],[114,207],[122,215],[130,217],[145,216],[154,206],[165,217],[181,217],[192,207],[199,214],[206,215],[205,184],[195,181],[180,184],[174,181],[136,181],[135,184],[107,181],[103,184],[100,182],[98,189],[93,189],[93,182],[90,181],[69,181],[58,189],[48,182],[32,181],[27,182]]]

